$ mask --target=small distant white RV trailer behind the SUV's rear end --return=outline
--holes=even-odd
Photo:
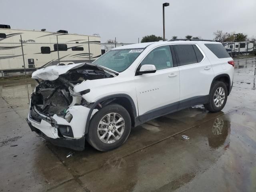
[[[222,43],[223,46],[228,49],[230,48],[232,50],[232,55],[245,55],[249,54],[249,52],[252,52],[254,43],[243,41],[243,42],[224,42]]]

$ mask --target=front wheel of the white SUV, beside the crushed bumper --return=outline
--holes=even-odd
[[[115,120],[113,120],[114,115]],[[130,131],[131,118],[128,111],[119,104],[110,104],[93,116],[86,140],[93,148],[106,152],[121,146],[128,138]],[[103,137],[102,140],[100,137]]]

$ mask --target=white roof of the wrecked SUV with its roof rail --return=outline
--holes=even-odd
[[[119,46],[112,50],[118,50],[118,49],[138,49],[138,48],[146,48],[149,45],[170,45],[170,44],[221,44],[220,42],[214,42],[214,41],[184,41],[184,40],[178,40],[178,41],[158,41],[158,42],[148,42],[148,43],[136,43],[136,44],[130,44],[125,46]]]

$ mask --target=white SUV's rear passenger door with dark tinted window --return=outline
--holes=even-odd
[[[214,72],[210,61],[196,44],[173,45],[180,71],[180,106],[206,102]]]

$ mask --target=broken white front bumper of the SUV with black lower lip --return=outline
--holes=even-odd
[[[84,136],[86,134],[86,120],[90,112],[90,108],[82,105],[75,105],[66,112],[72,116],[70,121],[67,121],[64,116],[46,116],[39,112],[35,107],[31,106],[28,118],[26,118],[31,130],[52,142],[57,146],[71,148],[74,150],[84,150]],[[63,129],[69,127],[72,134],[64,135]]]

